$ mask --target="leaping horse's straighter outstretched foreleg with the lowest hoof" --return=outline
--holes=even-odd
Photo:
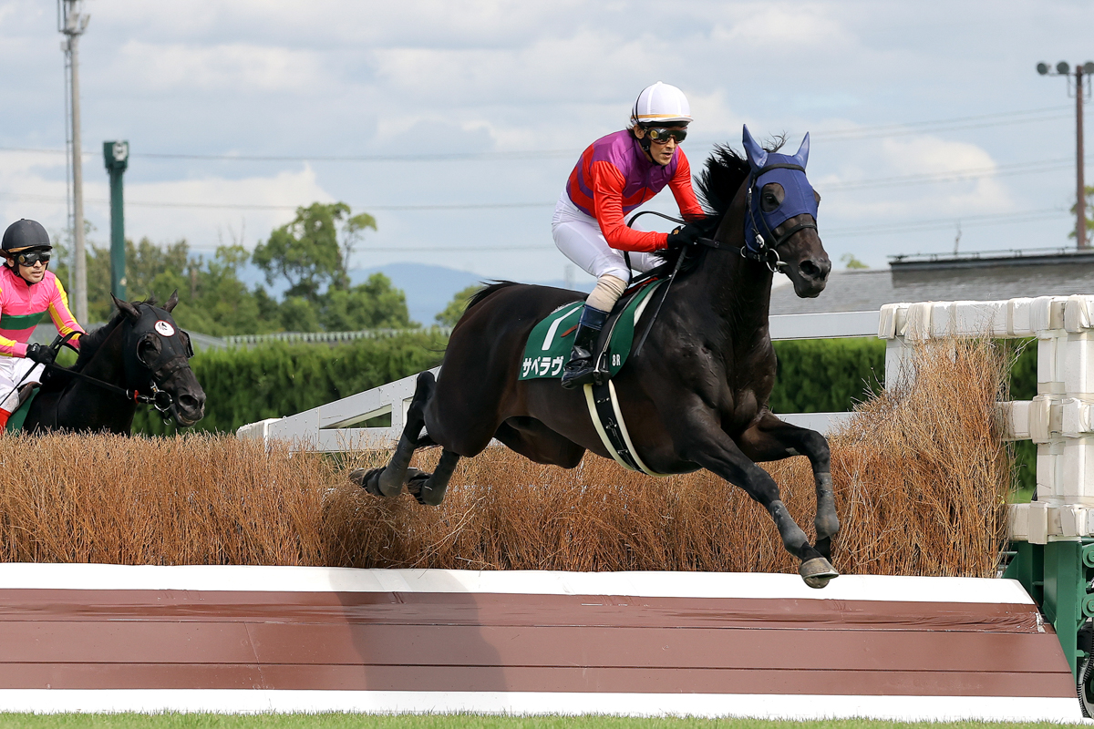
[[[696,408],[687,418],[688,427],[676,443],[687,460],[713,471],[730,483],[741,486],[761,504],[775,520],[787,551],[801,560],[798,573],[810,587],[824,587],[839,575],[821,552],[810,544],[779,495],[771,475],[756,466],[737,444],[719,426],[711,413]]]

